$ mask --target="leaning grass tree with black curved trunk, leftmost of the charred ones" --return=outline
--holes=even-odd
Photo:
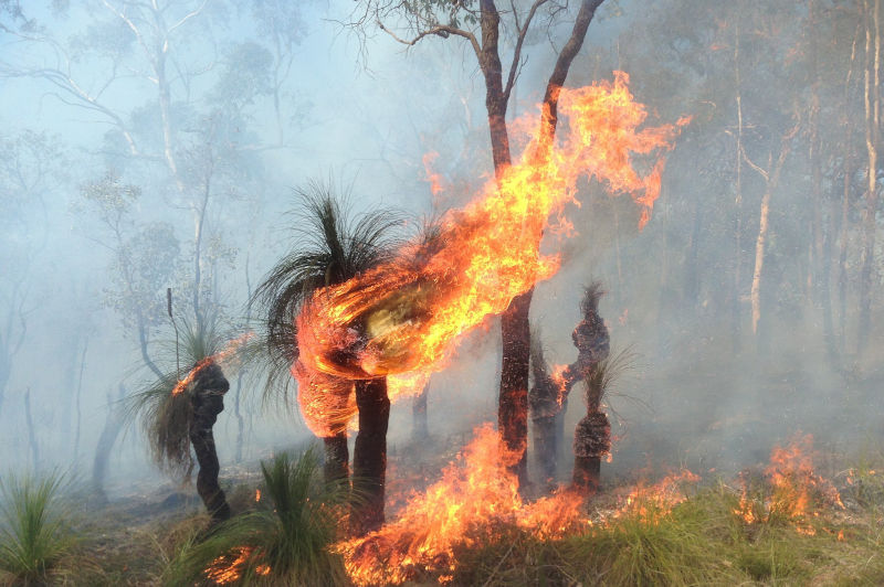
[[[138,414],[154,461],[179,479],[193,469],[191,447],[199,463],[197,492],[215,524],[230,517],[224,492],[218,483],[220,465],[214,426],[224,409],[223,396],[230,383],[218,364],[223,338],[213,320],[186,323],[183,359],[192,365],[183,378],[178,370],[167,372],[148,388],[129,399],[129,414]]]

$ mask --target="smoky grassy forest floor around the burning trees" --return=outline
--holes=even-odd
[[[812,363],[749,369],[701,357],[644,376],[630,391],[641,405],[611,398],[628,424],[614,426],[613,462],[602,465],[586,524],[555,537],[480,529],[480,540],[455,551],[453,570],[415,569],[411,585],[884,585],[884,372],[833,377]],[[391,442],[388,520],[472,436]],[[559,481],[570,473],[565,465]],[[688,469],[693,481],[661,490]],[[233,511],[246,511],[259,465],[221,477]],[[168,485],[76,513],[81,549],[53,584],[161,585],[208,522],[192,488]]]

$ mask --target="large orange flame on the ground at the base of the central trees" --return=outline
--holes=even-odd
[[[483,532],[512,523],[551,538],[580,522],[581,498],[560,492],[526,504],[507,467],[518,452],[508,450],[491,424],[445,468],[442,479],[411,498],[399,517],[367,536],[344,541],[335,549],[345,557],[356,585],[394,585],[419,569],[451,573],[455,549],[480,544]]]

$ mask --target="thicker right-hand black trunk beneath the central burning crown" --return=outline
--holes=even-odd
[[[352,484],[358,500],[352,512],[352,527],[356,535],[364,535],[383,525],[387,424],[390,419],[387,380],[357,382],[356,405],[359,434],[352,457]]]

